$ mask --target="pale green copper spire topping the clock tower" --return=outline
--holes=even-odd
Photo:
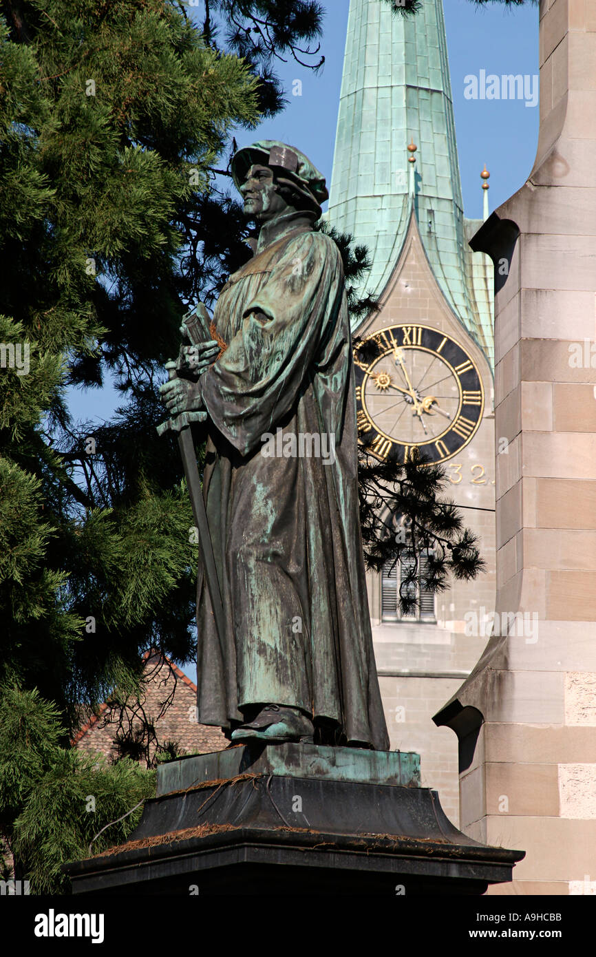
[[[442,0],[424,0],[415,16],[351,0],[328,218],[368,247],[364,286],[375,296],[412,212],[446,300],[492,361],[492,291],[485,256],[467,243],[473,230],[463,214]]]

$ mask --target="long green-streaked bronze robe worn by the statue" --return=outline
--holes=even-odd
[[[337,729],[338,743],[386,750],[342,260],[313,218],[263,226],[213,316],[228,348],[199,380],[203,495],[226,635],[222,644],[199,568],[198,720],[230,729],[255,705],[285,704]]]

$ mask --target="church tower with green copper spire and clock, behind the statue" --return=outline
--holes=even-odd
[[[359,430],[381,458],[418,447],[444,463],[487,563],[474,582],[420,594],[412,617],[397,605],[407,556],[368,575],[391,747],[421,754],[423,785],[457,823],[457,747],[431,719],[474,667],[495,609],[493,265],[468,245],[481,220],[463,213],[442,0],[415,16],[351,0],[328,219],[367,246],[362,291],[380,303],[353,330],[384,345],[357,365]]]

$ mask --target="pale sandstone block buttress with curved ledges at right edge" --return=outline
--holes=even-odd
[[[435,721],[459,740],[462,829],[526,852],[489,893],[594,895],[594,4],[541,4],[539,35],[534,167],[472,240],[497,267],[499,629]]]

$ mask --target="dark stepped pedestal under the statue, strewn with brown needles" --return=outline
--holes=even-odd
[[[521,851],[453,827],[419,758],[237,746],[168,762],[126,844],[66,865],[75,894],[482,894]]]

